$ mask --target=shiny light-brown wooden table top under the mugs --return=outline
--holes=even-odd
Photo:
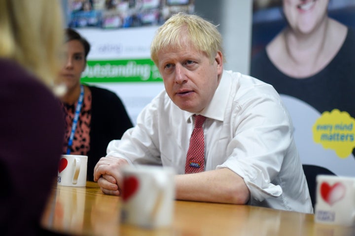
[[[96,182],[55,186],[41,225],[72,235],[101,236],[355,236],[355,228],[314,223],[313,214],[244,205],[175,201],[173,226],[140,229],[120,224],[120,198]]]

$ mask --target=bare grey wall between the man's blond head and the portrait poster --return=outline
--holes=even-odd
[[[225,69],[249,74],[252,0],[195,0],[196,13],[219,24]]]

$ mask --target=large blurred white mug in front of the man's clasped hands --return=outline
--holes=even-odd
[[[175,183],[172,168],[122,168],[121,221],[144,228],[169,227],[173,222]]]

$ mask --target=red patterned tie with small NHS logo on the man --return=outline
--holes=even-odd
[[[194,115],[194,117],[195,127],[187,151],[185,174],[199,173],[205,170],[205,138],[202,124],[206,117],[201,115]]]

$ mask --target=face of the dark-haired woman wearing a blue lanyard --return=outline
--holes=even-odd
[[[59,76],[67,89],[72,90],[80,85],[81,73],[86,66],[84,46],[79,40],[71,40],[66,43],[65,52],[67,60]]]

